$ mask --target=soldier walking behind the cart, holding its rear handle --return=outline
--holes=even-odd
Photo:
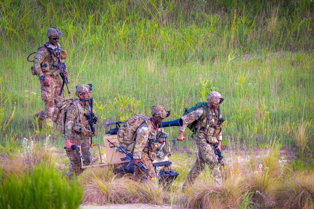
[[[65,121],[65,143],[67,147],[67,155],[70,159],[68,176],[73,174],[80,175],[84,170],[81,169],[79,149],[71,150],[71,145],[76,144],[81,146],[82,157],[84,165],[90,164],[90,141],[88,137],[92,137],[93,133],[89,130],[89,125],[84,113],[90,113],[89,99],[92,92],[90,86],[79,85],[76,86],[75,95],[79,99],[75,100],[67,110],[67,117]]]

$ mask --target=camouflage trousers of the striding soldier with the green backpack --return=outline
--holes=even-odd
[[[214,149],[215,148],[210,144],[203,144],[200,146],[198,149],[198,158],[196,159],[194,166],[187,176],[187,180],[184,182],[182,189],[184,189],[188,184],[193,184],[195,179],[198,177],[201,171],[204,170],[206,165],[212,171],[212,178],[214,178],[215,184],[222,186],[222,178],[218,166],[218,159]]]

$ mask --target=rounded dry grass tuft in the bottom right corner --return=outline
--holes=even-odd
[[[276,185],[273,191],[278,208],[313,209],[314,173],[300,172]]]

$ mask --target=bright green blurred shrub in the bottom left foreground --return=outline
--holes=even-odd
[[[62,179],[53,166],[35,167],[21,178],[8,172],[0,184],[0,208],[78,208],[82,194],[76,181]]]

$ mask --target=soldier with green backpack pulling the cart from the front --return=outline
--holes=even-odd
[[[212,144],[218,143],[218,147],[216,149],[221,149],[221,124],[217,126],[217,122],[221,119],[221,115],[219,114],[218,108],[219,104],[222,103],[224,98],[217,91],[212,91],[207,95],[207,112],[206,117],[202,121],[198,121],[197,133],[195,134],[195,142],[198,144],[198,158],[192,167],[189,175],[187,176],[187,180],[184,182],[182,189],[184,190],[188,184],[193,184],[194,180],[198,177],[200,172],[204,169],[205,165],[207,165],[212,171],[212,175],[214,178],[214,182],[217,185],[222,186],[222,178],[221,173],[218,166],[218,159],[215,154],[214,146]],[[206,103],[205,103],[206,104]],[[204,111],[204,107],[200,107],[193,112],[188,113],[183,116],[183,126],[179,128],[179,141],[183,141],[185,138],[183,137],[183,132],[188,124],[194,122],[201,118]],[[208,125],[208,126],[207,126]],[[207,127],[207,128],[206,128]],[[209,127],[209,128],[208,128]],[[216,136],[213,136],[210,127],[215,127]]]

